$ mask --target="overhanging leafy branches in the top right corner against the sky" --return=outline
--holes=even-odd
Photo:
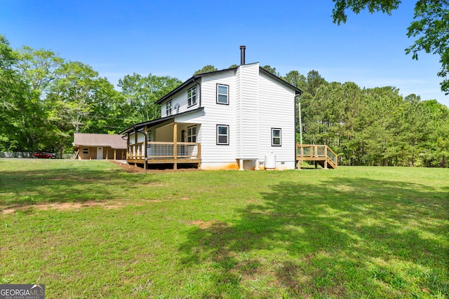
[[[368,10],[370,13],[382,12],[391,15],[401,1],[399,0],[333,0],[333,22],[340,25],[347,22],[347,10],[360,13]],[[406,48],[406,54],[413,53],[413,59],[418,59],[422,50],[440,56],[441,70],[438,76],[443,78],[441,90],[449,94],[449,1],[448,0],[418,0],[415,4],[415,15],[407,36],[418,37],[412,46]]]

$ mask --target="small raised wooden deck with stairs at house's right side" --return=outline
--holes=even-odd
[[[297,168],[301,168],[301,161],[314,161],[315,168],[321,165],[324,169],[337,168],[337,155],[326,145],[296,144]]]

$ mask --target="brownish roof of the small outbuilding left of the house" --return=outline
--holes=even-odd
[[[126,137],[119,134],[74,133],[73,146],[110,146],[126,149]]]

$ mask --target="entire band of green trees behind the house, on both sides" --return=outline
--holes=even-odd
[[[237,67],[236,64],[229,68]],[[303,90],[304,144],[327,144],[342,165],[449,167],[449,109],[436,100],[403,97],[397,88],[360,88],[263,67]],[[194,74],[217,71],[206,65]],[[160,117],[154,104],[182,82],[126,75],[116,90],[81,62],[50,50],[13,50],[0,35],[0,151],[71,153],[74,132],[116,134]]]

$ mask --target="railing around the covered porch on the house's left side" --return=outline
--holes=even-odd
[[[149,160],[201,158],[201,144],[194,142],[148,141],[146,151]],[[128,159],[145,159],[145,142],[128,145]]]

